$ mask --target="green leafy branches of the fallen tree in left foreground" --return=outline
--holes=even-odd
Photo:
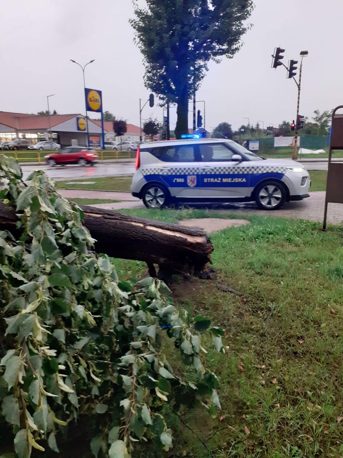
[[[81,417],[96,457],[128,457],[150,439],[168,451],[166,403],[201,402],[211,414],[220,407],[199,333],[209,330],[223,351],[222,330],[202,316],[191,326],[159,280],[119,281],[110,259],[91,251],[82,210],[42,171],[24,183],[19,165],[1,157],[1,177],[0,198],[18,223],[13,234],[0,232],[0,426],[11,425],[17,455],[59,452]],[[161,353],[163,335],[193,366],[192,379]]]

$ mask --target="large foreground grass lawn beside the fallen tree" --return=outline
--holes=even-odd
[[[188,209],[126,213],[173,223],[232,217]],[[217,417],[200,408],[181,412],[212,454],[169,412],[177,430],[169,456],[337,458],[343,455],[343,230],[244,218],[252,224],[211,234],[218,281],[242,297],[221,292],[216,280],[171,286],[178,307],[225,329],[226,353],[209,351],[206,358],[220,381]],[[115,264],[122,278],[145,273],[143,263]],[[143,456],[161,455],[149,445],[134,454]]]

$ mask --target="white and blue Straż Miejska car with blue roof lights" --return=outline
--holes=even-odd
[[[276,210],[309,197],[310,176],[289,159],[264,159],[236,142],[172,140],[141,144],[131,192],[148,208],[172,202],[251,202]]]

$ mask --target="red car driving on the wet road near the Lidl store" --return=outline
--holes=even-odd
[[[48,154],[44,157],[48,165],[79,164],[82,166],[95,164],[99,160],[99,155],[91,148],[69,146],[57,151],[56,153]]]

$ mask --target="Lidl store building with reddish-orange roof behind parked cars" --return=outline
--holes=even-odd
[[[112,122],[104,123],[105,140],[117,140],[113,132]],[[121,140],[139,140],[139,127],[128,124],[128,131]],[[101,145],[101,122],[88,120],[90,146]],[[41,116],[38,114],[11,113],[0,111],[0,142],[11,141],[16,138],[26,138],[33,143],[52,139],[61,147],[70,145],[87,145],[86,119],[82,114],[52,114]]]

